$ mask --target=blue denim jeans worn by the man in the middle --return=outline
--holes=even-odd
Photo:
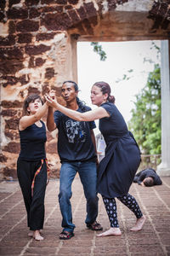
[[[62,227],[65,231],[73,232],[75,224],[72,223],[71,212],[71,184],[79,173],[84,195],[87,200],[86,224],[93,224],[98,215],[99,198],[96,193],[97,171],[94,161],[63,162],[59,174],[59,207],[62,214]]]

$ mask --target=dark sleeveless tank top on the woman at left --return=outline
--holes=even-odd
[[[20,159],[36,161],[46,158],[46,127],[41,123],[42,127],[33,124],[20,131]]]

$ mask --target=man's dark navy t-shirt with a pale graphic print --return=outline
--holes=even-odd
[[[86,106],[86,111],[91,108]],[[78,112],[84,112],[81,108]],[[54,112],[54,122],[59,130],[58,153],[62,161],[96,160],[90,130],[96,127],[94,121],[79,122],[58,110]]]

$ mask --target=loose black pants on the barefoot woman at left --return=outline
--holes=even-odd
[[[31,162],[18,159],[17,161],[17,175],[25,201],[27,223],[30,230],[42,230],[44,222],[44,197],[47,185],[45,160],[43,160],[41,171],[35,178],[33,195],[31,196],[31,183],[40,166],[41,160]]]

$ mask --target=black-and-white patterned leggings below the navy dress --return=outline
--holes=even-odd
[[[123,195],[123,196],[117,197],[117,199],[119,201],[122,201],[122,203],[135,214],[136,218],[141,218],[143,216],[142,212],[140,211],[139,204],[137,203],[137,201],[132,195],[130,194]],[[115,198],[105,198],[103,196],[103,201],[105,204],[105,210],[111,222],[111,227],[118,228],[119,224],[117,221]]]

